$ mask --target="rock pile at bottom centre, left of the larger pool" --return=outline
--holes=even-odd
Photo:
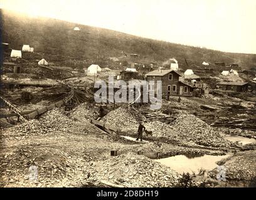
[[[173,187],[180,176],[157,161],[135,153],[101,161],[93,169],[95,172],[88,181],[96,185],[109,181],[127,187]]]

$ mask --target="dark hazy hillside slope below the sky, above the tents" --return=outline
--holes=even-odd
[[[36,52],[70,56],[75,59],[119,57],[121,52],[137,53],[144,61],[162,62],[176,58],[186,69],[189,64],[203,61],[238,63],[244,69],[256,66],[256,54],[234,54],[156,41],[122,32],[91,26],[78,25],[81,31],[73,31],[77,24],[49,18],[21,16],[18,12],[2,10],[3,42],[13,49],[23,44],[35,47]]]

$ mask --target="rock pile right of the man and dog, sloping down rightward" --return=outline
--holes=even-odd
[[[179,113],[170,126],[178,138],[193,141],[196,144],[214,147],[229,147],[232,144],[210,125],[186,111]]]

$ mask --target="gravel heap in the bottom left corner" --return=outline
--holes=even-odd
[[[59,149],[45,147],[23,147],[12,149],[0,156],[0,174],[6,187],[54,187],[67,183],[65,181],[78,171],[77,163],[81,159],[71,158]],[[31,180],[29,168],[37,169],[35,180]],[[68,177],[69,178],[69,177]],[[61,183],[61,184],[60,184]]]

